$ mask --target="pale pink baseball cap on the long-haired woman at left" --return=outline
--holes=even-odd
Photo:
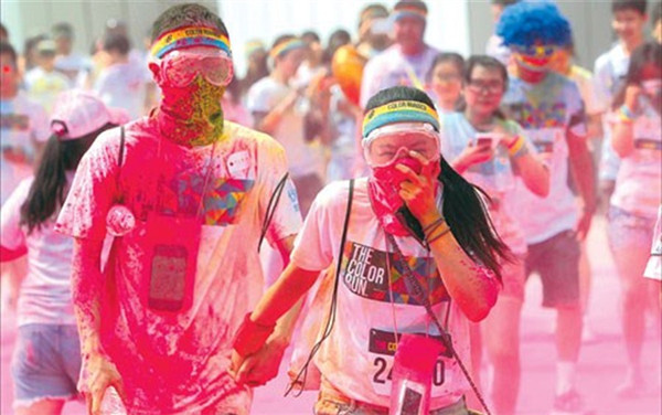
[[[125,109],[107,107],[96,95],[72,89],[57,96],[51,115],[51,131],[60,141],[75,140],[106,124],[119,126],[129,118]]]

